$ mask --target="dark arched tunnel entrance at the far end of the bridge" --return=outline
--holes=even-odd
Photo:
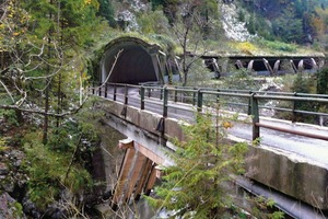
[[[109,77],[107,81],[113,83],[163,83],[164,72],[161,70],[163,64],[159,50],[157,45],[133,37],[121,37],[110,42],[101,61],[102,81]]]

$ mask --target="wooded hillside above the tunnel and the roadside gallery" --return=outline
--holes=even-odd
[[[208,50],[222,54],[249,51],[253,55],[317,54],[327,50],[327,0],[101,0],[109,24],[124,32],[163,34],[178,41],[172,33],[180,16],[197,14],[196,25]],[[188,4],[188,7],[186,7]],[[226,10],[229,8],[229,10]],[[197,12],[197,13],[194,13]],[[230,20],[226,27],[226,20]],[[178,27],[181,32],[184,28]],[[235,37],[229,35],[242,35]],[[246,34],[246,36],[245,36]],[[192,34],[190,34],[192,35]],[[248,48],[236,42],[248,42]],[[222,43],[224,45],[222,46]]]

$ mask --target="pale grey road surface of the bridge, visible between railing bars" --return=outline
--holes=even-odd
[[[125,89],[119,88],[116,92],[124,94]],[[108,99],[113,99],[113,89],[108,89],[107,96]],[[129,105],[140,107],[140,95],[138,89],[130,88],[128,90],[128,96]],[[124,95],[118,95],[117,101],[124,103]],[[163,101],[154,97],[147,97],[144,110],[162,114]],[[168,117],[181,119],[185,122],[195,122],[195,112],[196,107],[191,104],[168,102]],[[245,120],[247,115],[241,114],[239,117],[242,118],[242,120]],[[239,139],[251,141],[251,123],[249,123],[249,120],[250,118],[248,117],[248,123],[234,122],[233,128],[229,130],[229,134]],[[260,120],[263,124],[290,130],[328,136],[327,127],[292,123],[269,117],[260,117]],[[326,140],[302,137],[267,128],[261,128],[260,136],[261,145],[288,151],[291,153],[290,155],[292,158],[300,160],[300,162],[311,162],[328,169],[328,141]]]

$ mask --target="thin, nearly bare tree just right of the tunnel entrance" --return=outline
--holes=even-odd
[[[179,5],[179,7],[173,7]],[[212,0],[179,1],[166,10],[181,53],[180,82],[187,85],[190,67],[207,53],[206,37],[218,15],[218,3]]]

